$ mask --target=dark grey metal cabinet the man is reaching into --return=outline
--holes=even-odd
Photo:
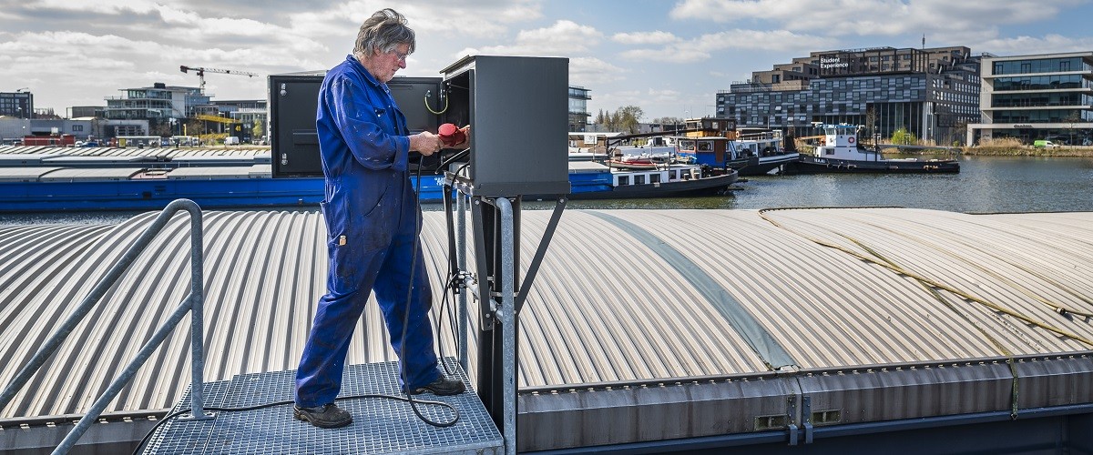
[[[460,191],[569,193],[568,59],[470,56],[440,72],[444,121],[471,125],[470,161],[455,176]]]

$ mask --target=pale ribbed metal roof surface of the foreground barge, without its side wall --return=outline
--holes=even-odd
[[[0,226],[0,355],[9,359],[0,383],[154,215],[117,226]],[[522,214],[524,267],[549,216]],[[435,283],[447,266],[444,216],[424,219]],[[174,218],[0,417],[90,407],[185,297],[187,224]],[[204,232],[207,380],[294,369],[325,290],[320,215],[209,212]],[[1090,239],[1093,213],[567,211],[520,314],[519,382],[565,387],[1088,350]],[[187,331],[176,330],[107,410],[171,407],[189,383],[188,351]],[[393,358],[369,304],[348,362]]]

